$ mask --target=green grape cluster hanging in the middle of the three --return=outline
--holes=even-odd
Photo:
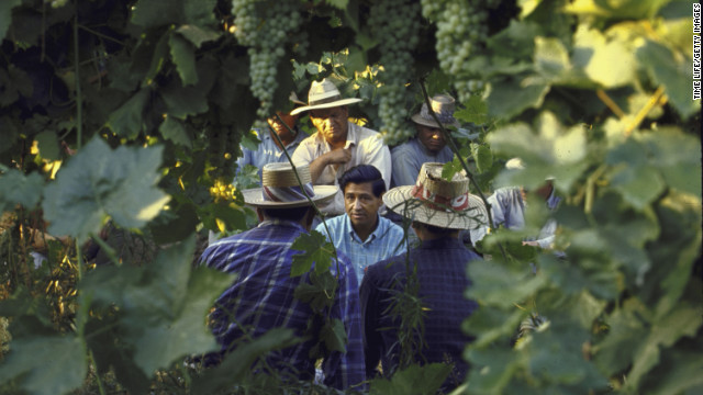
[[[388,145],[413,135],[406,127],[405,84],[412,79],[413,56],[420,32],[421,8],[416,1],[386,0],[371,5],[368,24],[380,42],[383,72],[379,80],[381,135]]]

